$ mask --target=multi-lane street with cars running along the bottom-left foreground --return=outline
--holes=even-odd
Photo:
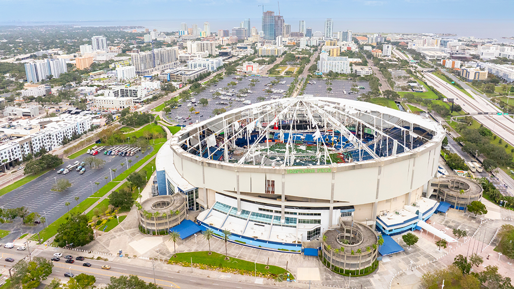
[[[42,257],[46,259],[50,259],[54,252],[57,252],[59,249],[54,249],[52,247],[46,247],[44,245],[33,246],[34,242],[31,244],[31,256],[33,257]],[[14,265],[17,261],[26,258],[28,254],[28,250],[25,251],[17,251],[15,249],[4,249],[2,248],[2,259],[0,260],[0,267],[5,265],[5,269],[3,274],[9,274],[8,268]],[[72,255],[74,258],[80,256],[80,252],[71,251],[71,250],[62,250],[63,255]],[[13,263],[9,263],[5,261],[5,258],[10,257],[15,261]],[[113,257],[109,257],[113,258]],[[102,261],[95,259],[86,259],[84,261],[77,261],[75,263],[69,264],[64,262],[64,258],[61,257],[61,260],[58,262],[53,262],[52,274],[48,277],[47,280],[52,280],[53,278],[59,278],[63,281],[67,281],[68,277],[64,277],[64,273],[71,272],[74,275],[79,274],[87,274],[93,275],[96,277],[96,284],[100,283],[109,283],[109,279],[111,277],[120,277],[122,275],[136,275],[140,279],[145,282],[154,282],[154,272],[152,270],[152,263],[150,261],[145,261],[141,259],[126,259],[126,258],[116,258],[115,261]],[[84,262],[88,262],[91,264],[91,267],[83,266]],[[111,269],[101,269],[103,265],[111,266]],[[234,289],[263,289],[270,288],[274,286],[269,285],[259,285],[252,284],[248,282],[240,282],[236,279],[237,275],[231,275],[228,273],[218,274],[216,272],[212,272],[211,278],[206,278],[201,275],[206,275],[209,271],[203,271],[194,268],[193,273],[189,273],[186,270],[182,270],[185,273],[177,273],[176,270],[172,268],[171,265],[156,263],[155,264],[155,283],[158,286],[163,288],[183,288],[183,289],[198,289],[198,288],[234,288]],[[189,271],[189,270],[188,270]],[[187,273],[186,273],[187,272]],[[200,275],[201,274],[201,275]],[[218,276],[216,278],[216,276]],[[224,277],[223,279],[219,276]],[[255,280],[255,278],[245,276],[245,279]],[[231,281],[233,280],[233,281]]]

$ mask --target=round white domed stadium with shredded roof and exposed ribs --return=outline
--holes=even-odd
[[[395,234],[437,208],[422,194],[444,137],[431,119],[368,102],[264,101],[175,134],[157,154],[158,191],[185,194],[199,225],[247,246],[299,251],[348,220]]]

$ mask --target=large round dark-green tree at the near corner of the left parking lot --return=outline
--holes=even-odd
[[[87,225],[86,215],[71,213],[57,229],[55,242],[59,247],[66,245],[80,247],[91,241],[93,241],[93,229]]]

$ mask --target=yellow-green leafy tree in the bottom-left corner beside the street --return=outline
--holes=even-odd
[[[32,257],[32,261],[21,260],[13,266],[11,288],[35,289],[41,281],[52,273],[53,264],[41,257]]]

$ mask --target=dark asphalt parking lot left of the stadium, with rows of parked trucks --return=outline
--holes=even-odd
[[[126,170],[127,159],[132,159],[132,164],[130,165],[134,165],[152,150],[153,148],[147,150],[144,154],[139,152],[134,156],[126,157],[126,159],[120,156],[107,156],[104,155],[102,151],[95,156],[105,160],[105,164],[102,168],[89,168],[89,166],[86,165],[86,171],[83,174],[79,174],[75,169],[72,169],[72,171],[65,175],[57,174],[57,171],[61,168],[65,168],[67,165],[73,164],[77,160],[82,161],[85,157],[90,155],[83,154],[75,159],[64,160],[64,164],[56,169],[0,196],[0,206],[4,208],[25,206],[28,208],[29,212],[38,212],[41,216],[45,216],[46,222],[50,224],[67,212],[65,206],[66,202],[70,203],[69,209],[71,209],[77,205],[75,197],[78,196],[80,198],[78,201],[80,203],[93,194],[93,192],[96,192],[99,188],[106,185],[107,182],[110,182],[110,169],[116,169],[116,173],[112,173],[112,177],[114,178]],[[138,158],[136,158],[136,156],[138,156]],[[120,165],[122,162],[124,164],[123,167]],[[107,179],[105,179],[105,177],[107,177]],[[67,178],[72,186],[63,192],[52,191],[52,186],[60,178]],[[95,182],[100,184],[97,186]],[[4,226],[9,226],[9,224],[2,224],[0,228],[4,229]]]

